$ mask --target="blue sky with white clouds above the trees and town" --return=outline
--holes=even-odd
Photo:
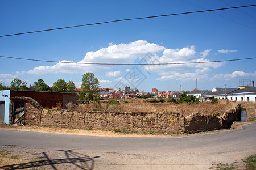
[[[213,1],[2,1],[0,35],[152,15],[253,5]],[[256,7],[131,20],[0,37],[0,56],[89,63],[179,63],[255,57]],[[79,87],[93,72],[101,87],[129,84],[139,91],[238,87],[256,78],[256,59],[167,66],[101,66],[0,58],[0,81],[49,85],[59,78]]]

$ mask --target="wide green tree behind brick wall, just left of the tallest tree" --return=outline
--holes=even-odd
[[[52,89],[57,92],[74,92],[76,88],[76,84],[72,81],[68,83],[63,80],[59,79],[53,83]]]

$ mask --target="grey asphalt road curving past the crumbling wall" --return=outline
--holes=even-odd
[[[213,162],[241,162],[256,153],[256,122],[243,127],[177,138],[92,137],[0,129],[0,146],[23,156],[41,155],[51,169],[208,169]],[[42,168],[44,164],[36,166]]]

